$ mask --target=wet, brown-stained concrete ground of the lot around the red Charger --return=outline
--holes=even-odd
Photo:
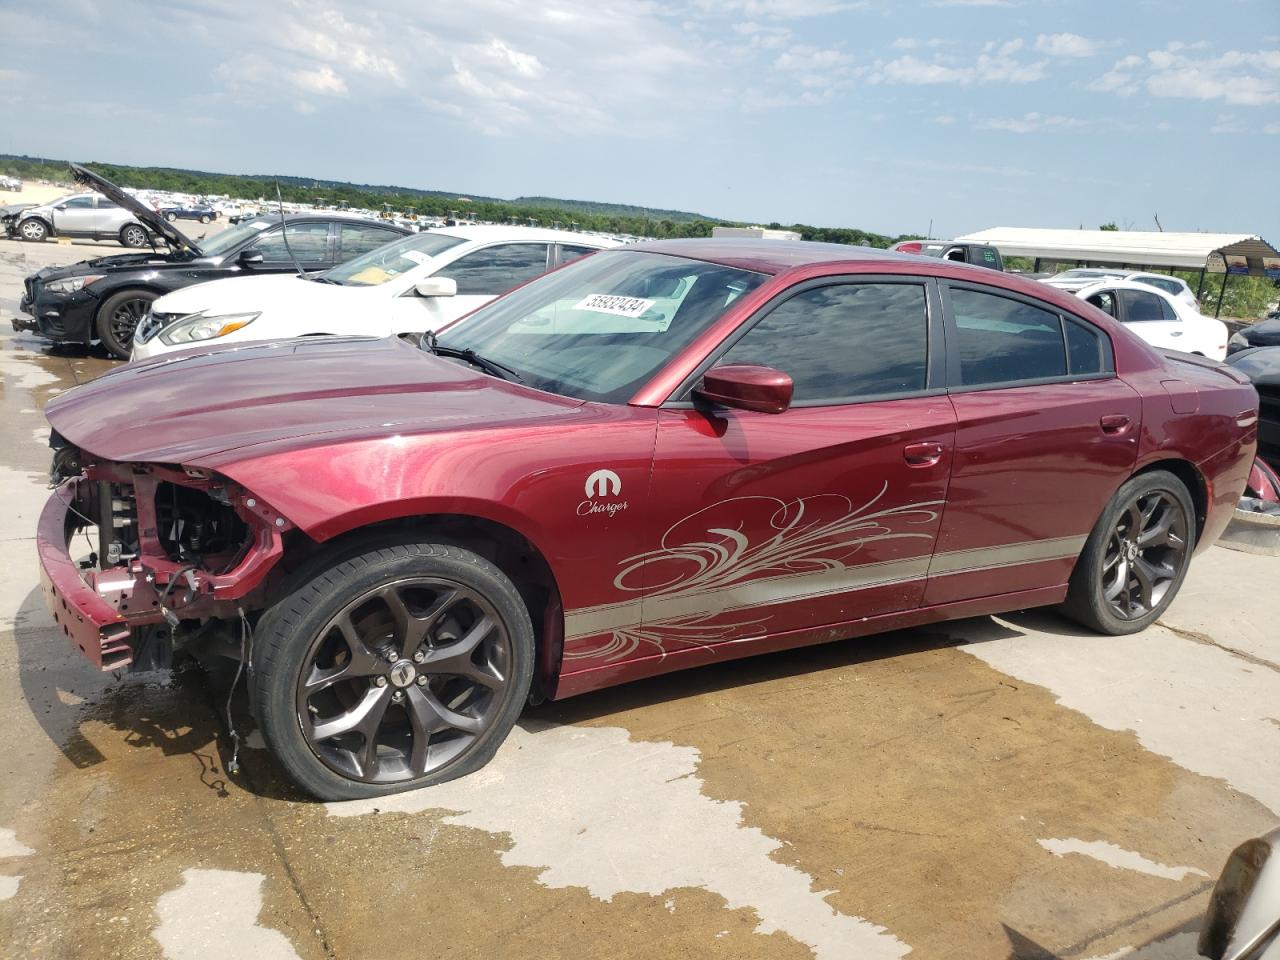
[[[8,320],[116,250],[0,241],[5,957],[1190,957],[1280,819],[1280,559],[1222,548],[1140,636],[1029,612],[662,677],[375,803],[253,735],[229,776],[225,686],[96,675],[40,599],[40,411],[113,364]]]

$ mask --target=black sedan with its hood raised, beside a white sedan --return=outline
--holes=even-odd
[[[381,220],[334,211],[269,214],[193,241],[159,212],[110,180],[72,164],[76,182],[96,189],[164,241],[148,252],[47,266],[26,279],[15,330],[35,330],[59,343],[101,340],[113,355],[128,358],[133,330],[151,302],[180,287],[223,276],[330,266],[367,253],[408,233]]]

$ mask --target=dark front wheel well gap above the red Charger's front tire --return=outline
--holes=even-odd
[[[285,557],[292,554],[292,562],[288,563],[292,571],[310,571],[317,557],[329,558],[353,548],[365,549],[369,541],[388,536],[402,541],[412,539],[462,547],[498,567],[516,585],[534,625],[538,654],[530,699],[539,703],[554,695],[564,646],[559,586],[541,550],[518,531],[468,515],[399,517],[351,530],[324,544],[298,538],[287,544]]]

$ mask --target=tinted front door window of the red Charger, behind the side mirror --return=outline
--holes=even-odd
[[[721,364],[787,374],[796,403],[841,403],[925,388],[929,355],[924,287],[849,283],[783,301]]]

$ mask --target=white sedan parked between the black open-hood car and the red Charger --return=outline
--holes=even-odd
[[[530,227],[449,227],[402,237],[320,274],[198,283],[151,305],[131,360],[197,344],[425,333],[561,264],[618,244]]]

